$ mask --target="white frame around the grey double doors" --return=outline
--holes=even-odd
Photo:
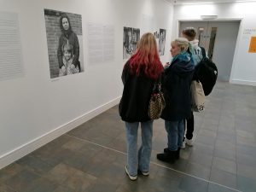
[[[238,40],[241,39],[241,35],[242,35],[242,32],[241,32],[241,28],[242,28],[242,24],[243,24],[243,19],[242,18],[222,18],[222,19],[177,19],[177,30],[176,30],[176,34],[177,36],[179,36],[178,32],[179,32],[179,28],[180,28],[180,23],[181,22],[198,22],[198,21],[201,21],[201,22],[230,22],[230,21],[239,21],[239,27],[238,27],[238,33],[237,33],[237,38],[236,38],[236,47],[235,47],[235,51],[234,51],[234,56],[233,56],[233,61],[232,61],[232,67],[231,67],[231,72],[230,72],[230,80],[229,82],[232,83],[233,82],[233,77],[234,77],[234,71],[235,71],[235,68],[236,68],[236,58],[237,58],[237,51],[238,51]]]

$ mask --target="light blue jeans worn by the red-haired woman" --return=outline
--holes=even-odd
[[[141,172],[149,172],[150,156],[152,151],[153,121],[141,122],[142,145],[137,151],[137,130],[139,122],[125,122],[127,141],[127,168],[131,176]]]

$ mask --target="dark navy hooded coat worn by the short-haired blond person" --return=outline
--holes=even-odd
[[[166,99],[166,108],[161,118],[169,121],[186,119],[191,113],[190,84],[194,65],[189,53],[177,55],[166,68],[162,86]]]

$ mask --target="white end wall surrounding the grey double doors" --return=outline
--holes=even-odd
[[[173,37],[177,37],[177,20],[201,20],[201,15],[218,15],[218,20],[241,19],[238,33],[230,82],[236,84],[256,85],[256,54],[248,53],[250,38],[256,36],[244,35],[246,29],[254,29],[256,18],[256,3],[217,3],[174,6]]]

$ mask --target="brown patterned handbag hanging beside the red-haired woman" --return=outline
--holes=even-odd
[[[155,82],[148,105],[148,117],[150,119],[160,119],[163,109],[166,107],[164,94],[161,91],[160,82]]]

